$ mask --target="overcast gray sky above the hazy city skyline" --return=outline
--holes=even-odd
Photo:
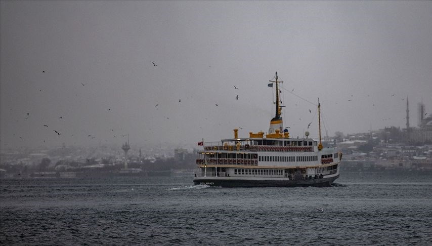
[[[286,91],[320,98],[330,136],[405,128],[407,96],[411,126],[421,100],[432,113],[432,2],[0,7],[2,148],[120,144],[127,133],[135,145],[195,146],[238,127],[267,132],[275,71]],[[286,91],[284,126],[301,137],[313,121],[316,137],[315,106]]]

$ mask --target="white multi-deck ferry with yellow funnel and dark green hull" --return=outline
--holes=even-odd
[[[276,72],[276,115],[270,120],[269,132],[249,132],[249,137],[218,142],[199,142],[195,185],[218,187],[328,187],[339,177],[342,153],[335,145],[324,148],[321,142],[320,103],[318,99],[319,141],[309,138],[290,138],[283,128],[281,91]]]

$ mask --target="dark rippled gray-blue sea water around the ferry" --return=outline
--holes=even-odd
[[[218,188],[192,176],[1,179],[3,245],[430,245],[432,172],[332,187]]]

